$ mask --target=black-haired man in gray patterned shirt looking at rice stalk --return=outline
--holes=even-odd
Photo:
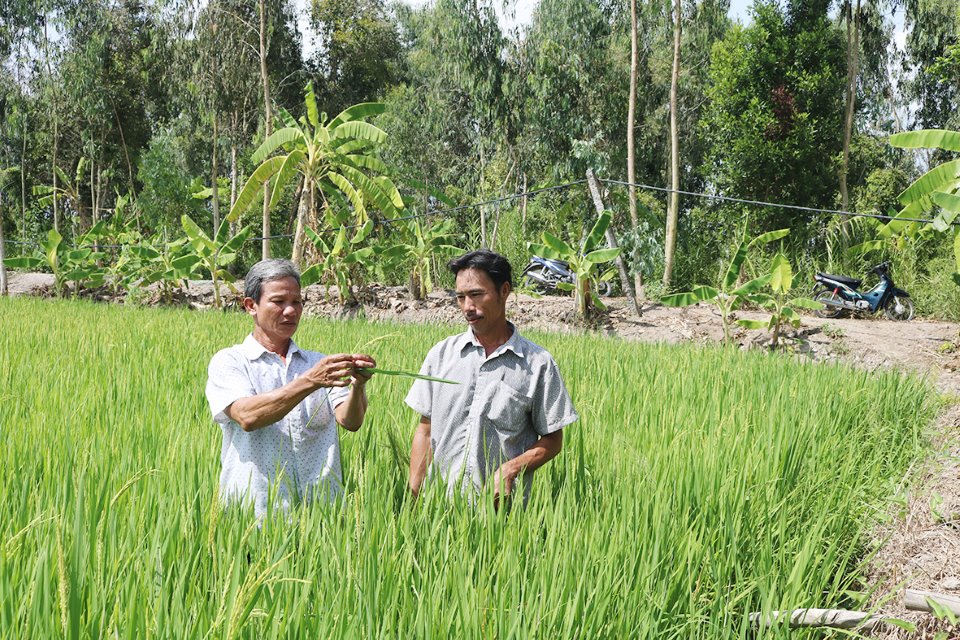
[[[416,380],[406,403],[420,414],[410,453],[410,490],[416,496],[428,471],[448,493],[467,495],[493,483],[495,503],[563,447],[562,429],[577,420],[560,371],[542,347],[507,321],[513,286],[510,263],[483,249],[451,260],[457,304],[470,328],[435,345],[420,373],[455,380]]]

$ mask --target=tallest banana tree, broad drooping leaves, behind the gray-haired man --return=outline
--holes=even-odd
[[[297,214],[293,241],[293,262],[303,263],[305,228],[317,220],[317,199],[326,207],[331,197],[342,194],[351,203],[359,224],[367,218],[366,203],[388,217],[396,217],[403,200],[396,185],[387,176],[387,166],[377,157],[377,148],[387,134],[366,122],[384,112],[380,103],[361,103],[344,110],[333,120],[318,113],[313,85],[307,84],[306,116],[294,120],[280,110],[283,127],[275,131],[254,152],[251,160],[259,166],[247,179],[230,210],[237,219],[257,199],[269,181],[274,206],[290,179],[303,179],[303,195]],[[271,155],[282,151],[277,155]]]

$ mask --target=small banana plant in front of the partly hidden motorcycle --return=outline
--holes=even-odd
[[[592,278],[609,280],[615,273],[613,269],[608,269],[603,273],[599,271],[600,265],[610,262],[620,255],[619,248],[601,248],[604,234],[607,232],[607,227],[610,226],[610,220],[609,211],[600,214],[593,228],[590,229],[590,233],[584,238],[583,244],[580,245],[579,251],[549,231],[543,232],[541,236],[542,244],[529,243],[527,245],[530,252],[535,255],[552,260],[563,260],[570,265],[570,271],[573,272],[575,277],[574,284],[560,283],[557,286],[566,291],[574,292],[574,305],[577,315],[581,318],[586,318],[589,314],[591,302],[598,309],[606,308],[606,305],[600,300],[600,296],[591,289],[590,281]]]

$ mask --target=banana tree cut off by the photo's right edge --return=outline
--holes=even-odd
[[[942,149],[960,152],[960,131],[924,129],[890,136],[890,144],[901,149]],[[955,271],[953,281],[960,285],[960,158],[944,162],[920,176],[900,194],[903,208],[882,232],[881,238],[916,233],[921,223],[901,218],[922,218],[925,214],[936,216],[928,228],[953,237]]]

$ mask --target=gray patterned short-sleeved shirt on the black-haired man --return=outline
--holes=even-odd
[[[423,375],[456,380],[416,380],[407,405],[430,418],[431,473],[438,471],[452,494],[479,491],[501,464],[544,436],[577,420],[577,412],[553,357],[514,328],[488,357],[473,330],[435,345]],[[524,478],[524,496],[533,474]]]

